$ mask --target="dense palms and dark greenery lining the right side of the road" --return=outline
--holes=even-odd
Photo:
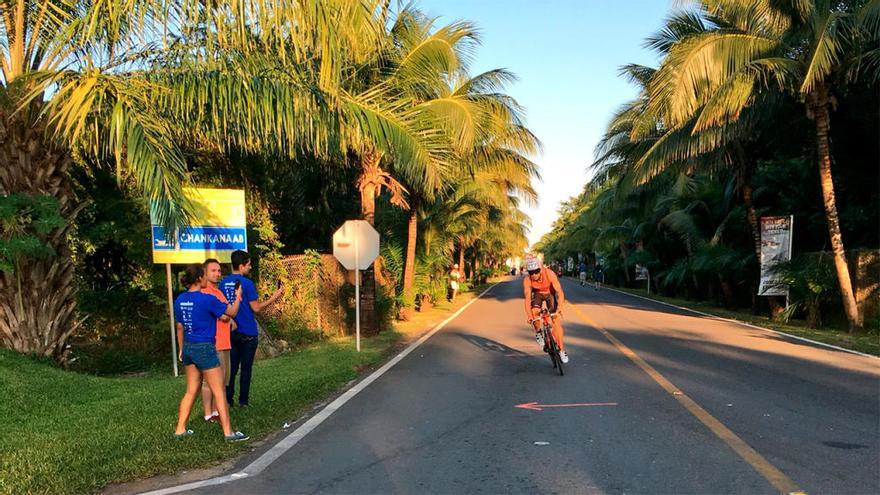
[[[598,254],[619,287],[645,287],[640,265],[664,297],[872,352],[855,343],[880,339],[880,5],[703,0],[645,47],[658,66],[621,67],[638,96],[537,248]],[[788,309],[756,295],[759,218],[781,215],[794,216],[793,258],[777,266]]]

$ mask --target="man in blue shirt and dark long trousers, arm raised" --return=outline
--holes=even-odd
[[[230,377],[229,384],[226,386],[226,401],[232,406],[232,399],[235,395],[235,375],[241,366],[241,382],[238,392],[238,405],[247,407],[250,400],[251,390],[251,371],[254,366],[254,357],[257,354],[257,319],[254,313],[259,313],[271,306],[284,293],[282,287],[272,294],[269,299],[260,301],[257,298],[257,287],[249,278],[252,270],[251,257],[246,251],[233,251],[232,253],[232,274],[220,282],[220,289],[226,294],[227,299],[230,294],[235,294],[236,284],[241,285],[241,309],[235,316],[235,324],[238,327],[232,333],[231,344],[232,352],[230,353]]]

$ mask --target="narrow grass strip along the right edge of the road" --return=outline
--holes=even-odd
[[[663,301],[684,308],[702,311],[722,318],[729,318],[744,323],[750,323],[755,326],[789,333],[798,337],[836,345],[845,349],[852,349],[865,354],[880,356],[880,334],[878,334],[876,330],[849,333],[836,328],[809,328],[806,326],[805,322],[799,320],[790,320],[787,323],[781,323],[773,321],[766,316],[753,315],[747,311],[732,311],[707,303],[687,301],[684,299],[659,296],[656,294],[647,295],[644,290],[622,289],[620,287],[613,287],[613,289],[642,297],[648,297],[657,301]]]

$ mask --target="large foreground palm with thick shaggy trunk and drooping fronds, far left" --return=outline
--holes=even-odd
[[[0,2],[0,194],[55,198],[65,220],[40,234],[54,256],[0,274],[2,344],[63,361],[77,328],[75,156],[170,200],[157,208],[178,225],[192,209],[181,143],[331,154],[352,135],[344,123],[382,152],[427,153],[401,127],[405,111],[340,83],[353,53],[379,49],[376,12],[372,0]]]

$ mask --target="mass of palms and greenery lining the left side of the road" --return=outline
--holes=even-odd
[[[372,223],[380,327],[445,299],[454,262],[480,281],[527,244],[539,143],[515,75],[470,71],[466,20],[387,0],[17,4],[0,6],[2,347],[102,374],[167,359],[147,199],[181,225],[186,186],[245,190],[261,291],[284,256]],[[292,347],[322,335],[295,311],[264,323]]]

